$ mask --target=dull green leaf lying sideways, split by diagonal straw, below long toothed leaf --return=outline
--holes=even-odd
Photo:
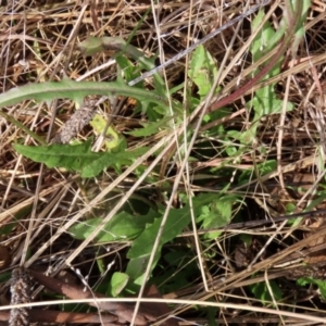
[[[134,216],[127,212],[121,212],[108,222],[97,235],[97,242],[127,241],[137,237],[146,223],[151,222],[150,215]],[[85,240],[102,223],[101,217],[78,222],[70,228],[70,234],[79,240]]]

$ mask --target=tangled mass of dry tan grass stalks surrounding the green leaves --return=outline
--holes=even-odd
[[[222,7],[222,2],[229,5]],[[27,83],[61,80],[63,76],[74,80],[115,80],[117,71],[111,51],[84,58],[77,50],[77,45],[87,36],[109,35],[127,39],[136,30],[131,43],[148,57],[159,53],[163,62],[238,15],[244,2],[248,1],[160,4],[149,1],[90,1],[89,4],[79,1],[13,1],[13,4],[0,8],[2,91]],[[277,28],[284,1],[272,2],[266,13]],[[18,155],[12,145],[16,141],[36,145],[35,141],[23,129],[1,118],[0,276],[1,292],[5,294],[1,304],[8,304],[4,300],[10,289],[8,279],[10,272],[18,265],[47,271],[53,277],[68,271],[68,283],[73,286],[79,284],[80,278],[85,280],[76,271],[80,271],[84,277],[88,275],[87,283],[91,286],[109,279],[113,272],[125,272],[126,250],[130,242],[99,246],[93,241],[96,231],[87,240],[79,241],[74,240],[67,230],[78,221],[92,216],[100,215],[108,221],[122,206],[131,206],[135,199],[147,206],[164,204],[163,224],[170,210],[180,209],[183,198],[188,198],[190,205],[192,196],[220,193],[226,185],[226,193],[238,198],[233,216],[241,217],[242,222],[281,216],[289,211],[323,213],[325,7],[323,1],[313,1],[305,25],[306,38],[296,58],[290,55],[290,47],[284,51],[281,73],[267,82],[255,83],[235,98],[231,95],[252,78],[252,72],[259,66],[252,64],[249,54],[251,18],[242,22],[237,32],[235,25],[210,40],[205,48],[218,62],[220,96],[228,97],[230,114],[224,117],[215,115],[208,124],[202,123],[204,105],[208,105],[206,112],[217,112],[214,105],[217,108],[218,99],[213,97],[211,101],[198,104],[191,113],[185,110],[184,123],[172,124],[171,133],[162,130],[140,139],[125,134],[129,148],[147,146],[150,150],[131,166],[125,167],[122,174],[110,170],[98,178],[82,179],[76,174],[27,160]],[[235,33],[236,38],[230,42]],[[276,55],[276,50],[271,53]],[[168,89],[187,79],[189,58],[164,70]],[[262,117],[254,142],[247,145],[237,156],[228,156],[226,151],[230,142],[226,143],[217,131],[214,137],[210,131],[217,130],[218,126],[243,134],[249,130],[254,114],[246,103],[256,89],[268,83],[276,83],[277,97],[284,102],[292,102],[294,110]],[[186,89],[171,98],[172,113],[173,100],[196,97],[197,89],[188,87],[189,80],[185,85]],[[153,88],[151,79],[147,87],[149,90]],[[125,98],[116,99],[115,108],[109,104],[98,108],[103,116],[110,116],[121,133],[139,128],[140,121],[147,122],[146,113],[135,114],[135,110],[133,99]],[[74,111],[75,103],[66,99],[48,103],[25,101],[3,109],[48,142]],[[192,143],[186,134],[196,128],[198,135]],[[92,134],[93,130],[86,127],[79,138],[87,139]],[[240,142],[234,141],[231,146],[238,148]],[[196,161],[185,158],[187,150]],[[275,160],[276,167],[261,176],[258,166],[268,160]],[[141,176],[135,173],[138,166],[143,166]],[[239,177],[246,171],[249,172],[248,178],[241,183]],[[135,212],[137,214],[140,213]],[[188,265],[192,266],[187,286],[174,289],[168,287],[170,280],[163,278],[162,284],[155,284],[164,291],[165,302],[180,300],[180,304],[170,311],[171,315],[180,318],[179,325],[205,325],[206,305],[212,305],[212,318],[223,325],[322,323],[325,303],[318,290],[313,286],[300,288],[292,279],[306,275],[325,277],[323,214],[304,218],[296,227],[279,222],[265,227],[248,224],[239,229],[239,225],[230,224],[218,238],[210,241],[196,230],[195,214],[192,217],[191,231],[185,230],[171,243],[175,250],[181,248],[180,251],[187,249],[192,253],[185,260],[187,263],[181,263],[171,275],[173,279]],[[209,231],[213,230],[205,230],[205,234]],[[252,239],[249,247],[243,244],[244,236]],[[298,259],[300,262],[294,265]],[[104,268],[110,266],[104,274],[99,272],[99,262],[103,262]],[[170,267],[164,263],[162,260],[161,268],[154,272],[156,279],[163,275],[164,268]],[[309,266],[302,268],[302,264]],[[249,290],[250,285],[259,281],[265,283],[269,290],[269,304],[263,305]],[[273,281],[283,290],[281,299],[275,297]],[[45,300],[40,294],[35,296],[38,302]],[[206,299],[210,299],[209,303],[204,302]],[[189,303],[198,304],[200,309],[196,311]]]

